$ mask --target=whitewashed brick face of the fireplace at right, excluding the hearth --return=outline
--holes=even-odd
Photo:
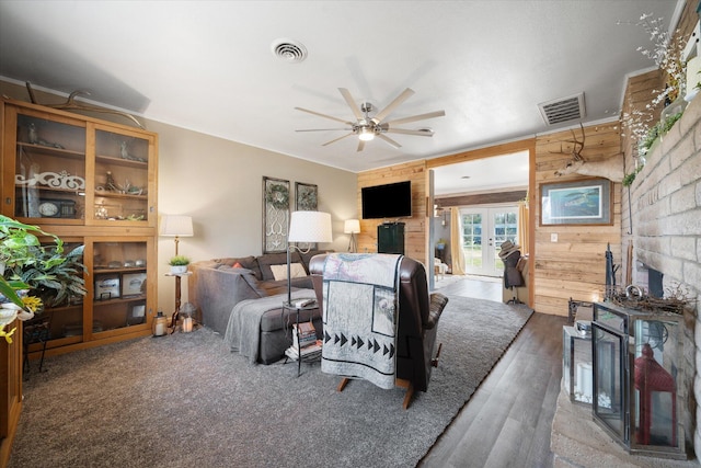
[[[701,454],[697,421],[701,379],[701,323],[697,322],[701,299],[701,99],[697,96],[683,116],[646,155],[646,163],[629,191],[622,191],[623,270],[632,272],[631,284],[651,296],[675,295],[689,299],[685,313],[683,365],[680,383],[689,398],[679,402],[687,444]],[[627,160],[627,167],[632,161]],[[630,212],[628,207],[630,206]],[[628,212],[628,213],[627,213]],[[627,250],[632,246],[632,258]],[[630,262],[630,266],[628,265]],[[688,450],[691,456],[693,453]]]

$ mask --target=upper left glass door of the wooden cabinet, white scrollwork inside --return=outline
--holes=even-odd
[[[70,224],[84,209],[85,128],[18,113],[14,216]]]

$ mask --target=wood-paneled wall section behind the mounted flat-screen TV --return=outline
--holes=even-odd
[[[422,263],[426,263],[428,244],[428,226],[426,205],[428,182],[426,161],[413,161],[404,164],[391,165],[358,174],[358,215],[363,213],[360,190],[366,186],[391,184],[411,181],[412,183],[412,217],[403,218],[406,224],[404,254]],[[358,235],[358,252],[377,252],[377,227],[382,219],[360,219]]]

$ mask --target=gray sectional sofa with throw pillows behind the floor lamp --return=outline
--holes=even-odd
[[[307,276],[292,278],[294,288],[313,289],[309,276],[309,261],[325,251],[306,254],[294,252],[291,263],[301,263]],[[261,320],[261,343],[258,362],[271,364],[284,356],[291,344],[291,323],[297,317],[283,313],[283,300],[287,294],[287,279],[275,279],[274,269],[287,265],[286,253],[267,253],[258,256],[212,259],[189,264],[193,275],[188,281],[188,300],[200,312],[202,323],[223,335],[233,307],[245,299],[256,299],[280,295],[279,309],[271,310]],[[286,269],[286,266],[285,266]],[[318,309],[312,312],[312,321],[319,338],[322,323]],[[302,312],[300,320],[309,320],[309,312]]]

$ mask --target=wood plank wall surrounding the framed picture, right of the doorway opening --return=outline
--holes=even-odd
[[[575,129],[577,139],[582,132]],[[586,161],[620,158],[620,125],[618,122],[584,128],[586,141],[582,156]],[[570,160],[573,144],[572,132],[560,132],[537,138],[536,191],[540,199],[542,183],[583,180],[578,174],[556,176],[554,171]],[[565,152],[566,155],[562,155]],[[540,203],[536,208],[533,251],[533,308],[543,313],[567,315],[567,301],[598,300],[604,298],[606,285],[606,250],[610,244],[613,263],[620,265],[621,243],[621,185],[612,184],[610,226],[540,226]],[[551,235],[558,235],[558,242]],[[620,283],[620,270],[618,272]]]

